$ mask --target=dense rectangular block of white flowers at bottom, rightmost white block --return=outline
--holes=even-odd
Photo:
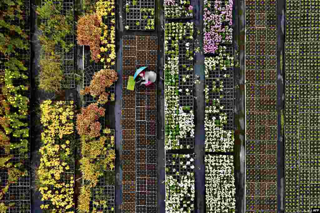
[[[205,155],[207,213],[235,212],[236,187],[232,155]]]

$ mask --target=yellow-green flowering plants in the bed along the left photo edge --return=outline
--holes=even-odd
[[[28,90],[27,86],[14,86],[16,80],[26,80],[26,70],[23,64],[15,58],[6,62],[8,69],[0,75],[0,147],[4,149],[0,157],[0,169],[8,175],[4,179],[4,186],[0,190],[0,200],[8,193],[11,184],[18,182],[21,176],[28,175],[24,167],[24,155],[28,152],[29,124],[25,121],[29,110],[29,99],[21,95],[21,92]],[[12,140],[12,139],[20,140]],[[14,155],[10,150],[16,149],[20,158],[11,161]],[[10,205],[9,205],[10,206]],[[0,203],[0,211],[5,211],[8,205]]]

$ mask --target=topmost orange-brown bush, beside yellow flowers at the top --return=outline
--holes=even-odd
[[[95,62],[100,59],[101,19],[95,13],[80,17],[77,25],[77,41],[79,45],[89,45],[91,58]]]

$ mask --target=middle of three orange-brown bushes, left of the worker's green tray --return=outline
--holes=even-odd
[[[116,80],[118,80],[118,76],[115,70],[100,70],[99,72],[94,73],[90,86],[84,87],[84,90],[80,91],[80,95],[89,93],[94,97],[98,95],[98,103],[104,104],[108,101],[106,87],[110,87]]]

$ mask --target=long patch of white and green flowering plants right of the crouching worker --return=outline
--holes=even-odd
[[[169,23],[165,28],[165,149],[192,148],[179,142],[179,139],[193,138],[195,127],[193,106],[181,106],[180,103],[179,69],[193,70],[193,54],[190,54],[192,60],[188,62],[191,65],[180,66],[179,44],[185,42],[186,49],[193,51],[193,23]],[[188,78],[190,75],[183,76],[181,84],[183,85],[183,81]],[[186,95],[193,95],[191,89],[184,92]]]

